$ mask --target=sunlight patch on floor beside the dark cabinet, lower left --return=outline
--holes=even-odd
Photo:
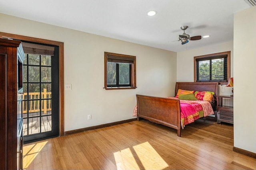
[[[48,141],[40,142],[23,147],[23,168],[26,169],[36,158],[38,153],[43,149]]]

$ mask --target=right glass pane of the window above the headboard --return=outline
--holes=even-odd
[[[224,80],[224,59],[212,60],[212,80]]]

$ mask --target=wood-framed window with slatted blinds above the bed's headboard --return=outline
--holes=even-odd
[[[230,51],[194,57],[194,82],[228,82]]]

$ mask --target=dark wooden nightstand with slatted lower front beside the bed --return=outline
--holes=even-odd
[[[232,96],[217,96],[217,123],[226,122],[234,124],[233,106],[224,106],[223,98],[233,100]]]

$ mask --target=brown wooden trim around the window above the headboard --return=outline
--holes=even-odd
[[[209,59],[209,58],[216,58],[221,56],[227,56],[227,80],[226,82],[219,82],[219,84],[227,83],[230,78],[230,51],[225,51],[221,53],[214,53],[214,54],[207,54],[207,55],[200,55],[194,57],[194,82],[196,82],[196,59]],[[210,81],[209,81],[210,82]]]

